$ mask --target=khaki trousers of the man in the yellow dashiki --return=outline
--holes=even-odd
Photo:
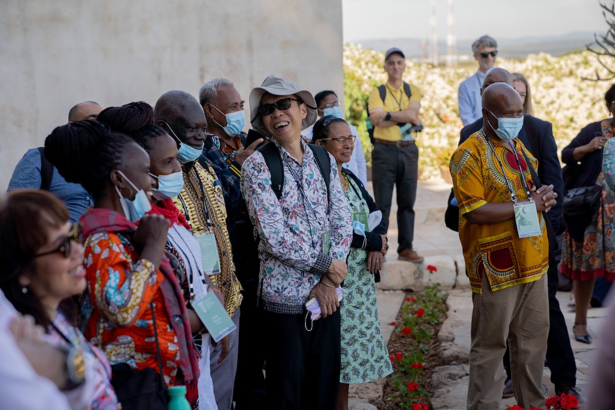
[[[544,407],[541,386],[549,335],[547,275],[495,292],[483,275],[482,293],[472,294],[472,300],[468,410],[500,408],[507,339],[517,404],[525,409]]]

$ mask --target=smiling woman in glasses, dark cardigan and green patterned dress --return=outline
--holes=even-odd
[[[387,249],[384,221],[370,223],[382,213],[359,178],[342,164],[354,149],[355,135],[345,120],[325,116],[314,124],[312,141],[333,155],[346,202],[352,212],[354,232],[348,254],[341,315],[341,374],[337,410],[348,409],[349,384],[367,383],[391,374],[393,369],[384,343],[376,306],[375,275],[379,275]]]

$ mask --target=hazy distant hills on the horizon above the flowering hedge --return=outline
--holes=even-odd
[[[504,58],[523,58],[528,54],[539,52],[549,53],[554,56],[563,55],[576,50],[585,49],[585,45],[593,41],[592,31],[574,31],[563,36],[524,36],[517,38],[496,39],[498,41],[499,57]],[[475,39],[457,39],[457,54],[472,57],[472,42]],[[384,51],[391,47],[399,47],[406,53],[407,58],[420,58],[422,54],[422,44],[428,46],[427,38],[411,39],[374,39],[354,41],[354,44],[361,44],[366,49]],[[427,48],[424,51],[427,52]],[[438,54],[443,56],[446,53],[446,40],[438,41]]]

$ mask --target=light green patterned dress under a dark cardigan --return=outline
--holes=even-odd
[[[352,178],[346,190],[351,212],[369,213],[367,202]],[[344,304],[341,313],[341,373],[339,382],[358,384],[391,374],[389,352],[380,333],[376,284],[367,270],[367,251],[350,248],[348,275],[344,280]]]

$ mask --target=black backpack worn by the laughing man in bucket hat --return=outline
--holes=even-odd
[[[320,173],[327,184],[327,198],[330,195],[330,169],[331,159],[323,146],[316,144],[308,144],[309,148],[314,152],[316,164],[320,169]],[[263,154],[263,158],[269,173],[271,173],[271,189],[276,194],[277,199],[282,197],[282,188],[284,187],[284,167],[282,167],[282,158],[280,152],[274,143],[269,142],[256,148]],[[325,171],[326,170],[326,171]],[[239,218],[229,230],[229,239],[233,249],[233,262],[235,264],[235,274],[246,290],[252,292],[258,284],[258,276],[260,272],[260,261],[258,259],[258,243],[260,237],[254,237],[254,225],[248,214],[248,207],[245,199],[239,201]],[[241,250],[240,252],[237,250]]]

